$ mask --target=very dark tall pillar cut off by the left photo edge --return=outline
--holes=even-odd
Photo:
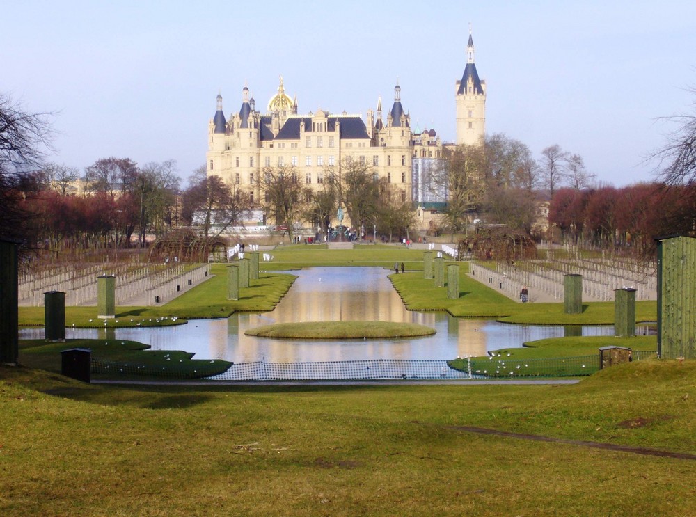
[[[19,363],[17,242],[0,240],[0,364]]]

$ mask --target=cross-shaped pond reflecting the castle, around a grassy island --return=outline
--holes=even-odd
[[[235,314],[227,319],[192,320],[165,328],[68,329],[66,337],[118,338],[150,344],[155,350],[185,350],[196,359],[235,363],[360,359],[452,359],[521,347],[523,342],[567,335],[563,326],[518,326],[490,320],[458,319],[445,312],[406,310],[381,268],[313,268],[298,276],[272,312]],[[289,321],[366,320],[414,322],[436,334],[407,340],[271,340],[244,335],[256,326]],[[582,335],[611,335],[613,326],[574,328]],[[24,329],[20,338],[43,337],[43,329]]]

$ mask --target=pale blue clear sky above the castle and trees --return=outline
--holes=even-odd
[[[693,1],[7,2],[0,92],[52,112],[48,159],[205,164],[216,96],[245,84],[265,110],[283,76],[299,113],[384,116],[401,88],[411,126],[454,141],[469,26],[487,83],[486,132],[580,154],[603,184],[655,179],[648,157],[695,113]],[[385,120],[386,122],[386,120]]]

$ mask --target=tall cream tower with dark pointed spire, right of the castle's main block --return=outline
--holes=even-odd
[[[455,85],[457,145],[479,145],[486,130],[486,81],[479,79],[474,62],[474,41],[469,25],[466,67]]]

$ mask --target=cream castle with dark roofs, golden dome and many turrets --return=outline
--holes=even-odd
[[[299,181],[320,189],[328,170],[353,160],[367,165],[379,179],[393,185],[402,201],[411,201],[418,220],[427,226],[428,214],[446,202],[446,189],[434,189],[428,178],[443,155],[443,146],[477,145],[484,136],[486,84],[477,73],[474,44],[469,29],[466,66],[455,83],[454,100],[457,140],[443,143],[434,129],[415,132],[411,117],[401,102],[401,88],[394,88],[391,109],[383,120],[381,98],[377,109],[367,111],[367,120],[350,113],[301,115],[297,99],[285,93],[280,77],[278,91],[267,104],[266,113],[256,109],[249,89],[242,89],[242,106],[226,118],[223,99],[208,125],[207,175],[219,175],[260,205],[259,179],[264,168],[292,166]]]

